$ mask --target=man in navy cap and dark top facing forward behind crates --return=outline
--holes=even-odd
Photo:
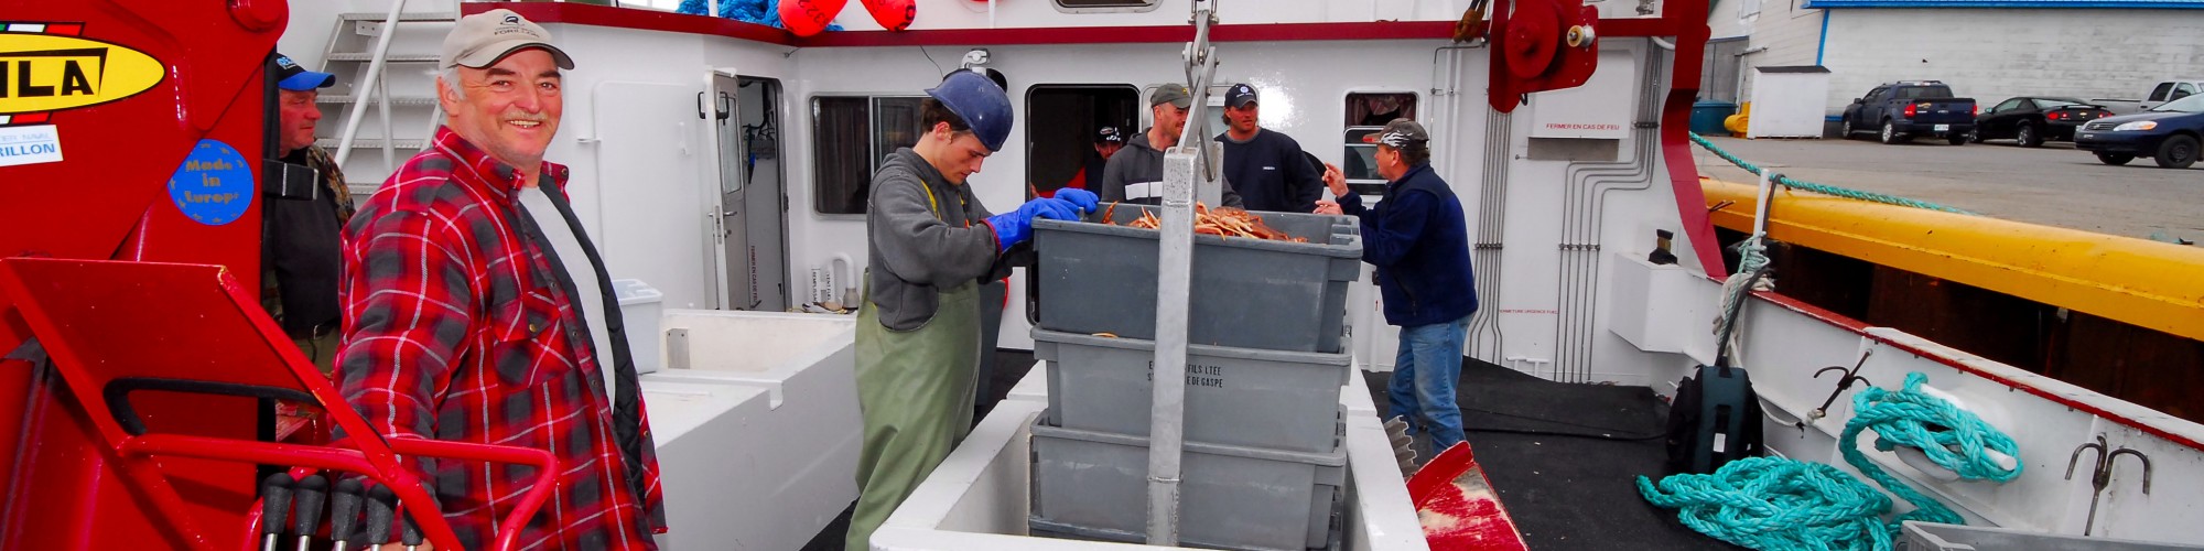
[[[1294,137],[1263,130],[1256,123],[1254,86],[1232,84],[1225,90],[1225,181],[1239,190],[1247,209],[1311,212],[1325,198],[1322,172],[1300,154]]]

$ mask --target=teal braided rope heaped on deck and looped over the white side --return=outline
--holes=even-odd
[[[1882,516],[1891,511],[1891,498],[1882,491],[1832,465],[1790,458],[1739,458],[1715,474],[1675,474],[1657,485],[1638,476],[1638,494],[1646,503],[1679,509],[1677,520],[1699,533],[1763,551],[1889,551],[1904,520],[1966,525],[1951,507],[1867,461],[1858,445],[1860,432],[1873,428],[1876,450],[1882,452],[1913,445],[1929,461],[1973,480],[2006,483],[2021,476],[2019,465],[1999,467],[1984,452],[2017,458],[2012,436],[1922,392],[1926,381],[1926,375],[1909,372],[1904,390],[1860,390],[1840,436],[1845,463],[1917,507],[1889,522]]]

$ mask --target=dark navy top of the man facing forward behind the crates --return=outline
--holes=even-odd
[[[1247,141],[1217,134],[1225,145],[1225,181],[1247,209],[1311,212],[1325,198],[1325,170],[1311,168],[1294,137],[1256,128]]]

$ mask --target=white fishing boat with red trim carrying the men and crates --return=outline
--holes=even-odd
[[[271,51],[339,75],[320,145],[366,196],[441,121],[443,33],[491,9],[575,60],[547,159],[573,170],[611,276],[633,280],[622,309],[641,335],[668,549],[840,547],[857,494],[846,306],[862,302],[864,190],[917,139],[921,90],[965,68],[1001,75],[1016,110],[1018,139],[970,183],[996,209],[1062,187],[1095,128],[1146,128],[1153,84],[1195,84],[1206,132],[1223,130],[1228,86],[1256,88],[1263,128],[1369,198],[1384,179],[1366,137],[1397,117],[1430,130],[1483,298],[1463,350],[1474,461],[1446,483],[1490,507],[1448,516],[1402,474],[1371,392],[1397,328],[1364,264],[1340,313],[1355,377],[1338,403],[1338,507],[1309,520],[1309,549],[1717,549],[1633,480],[1664,474],[1668,399],[1715,364],[1752,375],[1759,414],[1743,423],[1765,456],[1873,465],[1997,533],[2204,544],[2204,251],[1774,174],[1701,179],[1686,128],[1704,0],[915,0],[901,20],[849,9],[804,35],[771,26],[796,11],[763,2],[0,4],[0,549],[258,547],[269,465],[403,487],[408,454],[540,461],[280,441],[293,425],[269,401],[342,397],[251,293]],[[1726,289],[1746,280],[1772,284]],[[1051,392],[1076,388],[1051,386],[1047,361],[1027,368],[1045,348],[1036,276],[1005,289],[1003,399],[873,549],[1175,542],[1175,527],[1036,536],[1036,428],[1049,432]],[[1865,392],[1933,395],[2014,452],[1878,447],[1847,430]],[[1964,478],[1937,454],[2017,474]],[[434,507],[419,489],[397,498]],[[434,525],[428,540],[450,538]]]

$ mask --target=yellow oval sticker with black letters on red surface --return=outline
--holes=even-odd
[[[161,84],[161,60],[73,35],[0,33],[0,115],[132,97]]]

